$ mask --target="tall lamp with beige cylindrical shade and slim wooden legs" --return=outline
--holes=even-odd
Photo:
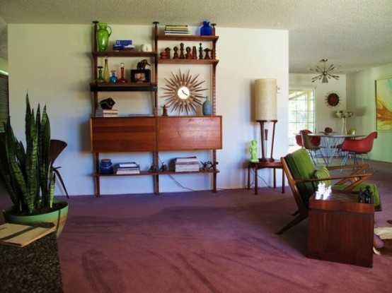
[[[261,157],[259,162],[274,162],[275,124],[277,123],[277,80],[255,80],[255,120],[260,123]],[[271,154],[267,157],[268,124],[272,123]]]

